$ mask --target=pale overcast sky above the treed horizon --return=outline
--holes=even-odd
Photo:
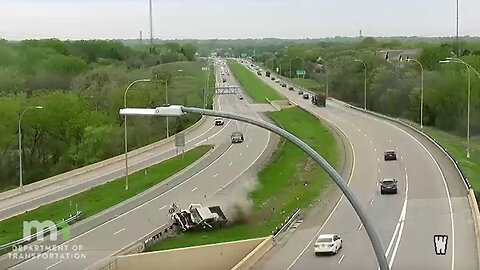
[[[454,36],[456,0],[152,0],[159,39]],[[459,0],[459,35],[480,36],[480,0]],[[133,39],[148,0],[0,0],[0,37]]]

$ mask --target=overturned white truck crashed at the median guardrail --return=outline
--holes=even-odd
[[[183,231],[219,228],[228,221],[220,206],[203,207],[201,204],[190,204],[188,209],[178,211],[176,206],[172,205],[170,213],[173,224]]]

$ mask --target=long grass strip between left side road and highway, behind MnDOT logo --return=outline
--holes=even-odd
[[[40,206],[24,214],[0,221],[0,245],[23,237],[23,221],[52,220],[56,223],[74,214],[76,207],[83,218],[92,216],[114,206],[142,191],[162,182],[203,156],[211,146],[199,146],[184,155],[178,155],[129,176],[129,187],[125,190],[124,178],[93,187],[77,195]]]

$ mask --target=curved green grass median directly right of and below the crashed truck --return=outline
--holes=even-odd
[[[290,108],[268,114],[289,132],[305,141],[326,158],[338,163],[339,147],[334,136],[315,117]],[[281,142],[258,174],[259,185],[250,193],[254,203],[251,216],[237,224],[211,232],[188,232],[154,245],[150,250],[164,250],[225,241],[235,241],[271,234],[296,208],[305,208],[319,199],[330,185],[328,175],[290,142]]]

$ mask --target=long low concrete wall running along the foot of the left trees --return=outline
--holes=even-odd
[[[181,131],[180,133],[186,133],[186,132],[189,132],[189,131],[197,128],[199,125],[201,125],[205,121],[205,119],[206,119],[206,117],[202,116],[202,118],[200,118],[200,120],[198,120],[195,124],[191,125],[190,127]],[[129,158],[134,157],[136,155],[139,155],[139,154],[145,153],[147,151],[150,151],[153,148],[156,148],[158,146],[169,143],[173,140],[175,140],[175,136],[170,136],[170,137],[165,138],[161,141],[158,141],[158,142],[146,145],[144,147],[138,148],[136,150],[130,151],[130,152],[128,152],[128,156],[129,156]],[[81,175],[81,174],[96,170],[98,168],[102,168],[102,167],[114,164],[116,162],[119,162],[119,161],[123,160],[124,157],[125,157],[124,154],[121,154],[121,155],[118,155],[118,156],[115,156],[115,157],[112,157],[112,158],[109,158],[109,159],[106,159],[106,160],[99,161],[99,162],[91,164],[91,165],[87,165],[87,166],[82,167],[82,168],[78,168],[78,169],[75,169],[75,170],[72,170],[72,171],[68,171],[68,172],[65,172],[65,173],[62,173],[62,174],[52,176],[52,177],[44,179],[44,180],[40,180],[40,181],[31,183],[31,184],[25,185],[25,186],[23,186],[22,189],[15,188],[15,189],[11,189],[11,190],[2,192],[2,193],[0,193],[0,200],[4,200],[4,199],[7,199],[7,198],[16,196],[18,194],[29,192],[29,191],[32,191],[32,190],[35,190],[35,189],[39,189],[39,188],[42,188],[42,187],[45,187],[45,186],[48,186],[48,185],[51,185],[51,184],[55,184],[55,183],[64,181],[64,180],[68,180],[68,179],[70,179],[72,177],[75,177],[77,175]]]

